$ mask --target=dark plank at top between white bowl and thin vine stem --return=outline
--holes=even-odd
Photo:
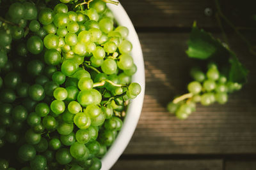
[[[205,8],[214,10],[212,0],[123,0],[121,4],[135,27],[191,27],[194,20],[204,27],[217,25],[214,16],[204,14]]]

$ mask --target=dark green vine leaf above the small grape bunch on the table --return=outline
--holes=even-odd
[[[248,70],[239,62],[236,54],[225,48],[221,41],[214,39],[209,32],[198,29],[196,24],[193,28],[188,41],[189,57],[194,59],[213,61],[219,66],[219,70],[226,74],[228,81],[244,84],[247,81]]]

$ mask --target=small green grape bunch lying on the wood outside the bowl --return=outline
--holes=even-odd
[[[167,110],[175,113],[179,119],[186,119],[196,110],[196,103],[209,106],[214,102],[225,104],[228,101],[228,93],[240,90],[242,85],[227,81],[227,77],[220,73],[214,63],[208,64],[204,73],[200,68],[191,69],[193,81],[188,84],[188,94],[176,97],[168,103]]]

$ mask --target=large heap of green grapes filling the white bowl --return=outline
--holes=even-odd
[[[17,153],[0,169],[100,169],[141,92],[128,29],[101,0],[16,2],[0,20],[0,150]]]

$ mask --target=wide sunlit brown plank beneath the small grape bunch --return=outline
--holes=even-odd
[[[188,33],[140,33],[146,68],[146,92],[140,121],[124,154],[256,153],[256,57],[230,39],[250,70],[243,89],[225,105],[197,105],[187,120],[166,111],[173,96],[186,92],[193,60],[184,51]]]

